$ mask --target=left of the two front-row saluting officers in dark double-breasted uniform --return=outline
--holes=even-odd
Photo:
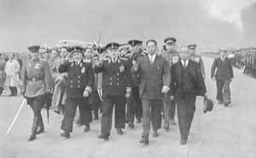
[[[73,59],[67,60],[71,54]],[[83,51],[80,47],[73,47],[71,49],[71,53],[61,63],[59,72],[67,72],[67,110],[61,124],[61,129],[64,131],[64,133],[61,133],[61,136],[70,138],[70,133],[73,132],[73,119],[78,105],[81,120],[85,124],[84,132],[90,131],[92,116],[89,94],[94,84],[94,74],[91,63],[84,61]]]

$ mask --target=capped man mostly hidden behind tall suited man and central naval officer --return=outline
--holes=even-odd
[[[140,57],[144,56],[143,49],[141,48],[143,41],[139,40],[130,40],[128,44],[131,47],[130,54],[125,56],[128,59],[128,63],[132,66],[132,61],[136,61]],[[132,74],[133,85],[131,87],[131,97],[127,99],[127,113],[126,113],[126,122],[128,122],[129,127],[134,127],[134,116],[137,118],[137,123],[142,122],[143,117],[143,105],[140,99],[139,86],[140,86],[141,77],[136,71]]]

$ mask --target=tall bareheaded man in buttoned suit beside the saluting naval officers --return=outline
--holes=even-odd
[[[169,91],[171,82],[170,69],[166,59],[156,54],[157,42],[148,40],[148,55],[136,62],[133,61],[131,72],[138,72],[141,76],[139,87],[140,99],[143,103],[143,135],[140,143],[148,144],[150,121],[153,126],[153,137],[157,137],[157,130],[161,127],[161,97]],[[150,112],[151,109],[151,112]],[[151,119],[152,118],[152,119]]]

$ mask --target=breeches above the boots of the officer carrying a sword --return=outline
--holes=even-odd
[[[26,100],[34,112],[34,117],[42,118],[41,110],[45,104],[45,95],[38,95],[37,97],[26,98]]]

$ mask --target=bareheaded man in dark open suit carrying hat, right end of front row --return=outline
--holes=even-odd
[[[183,46],[179,54],[179,61],[171,68],[170,96],[177,103],[180,144],[186,144],[195,113],[196,96],[207,96],[207,90],[200,65],[189,59],[189,48]]]

